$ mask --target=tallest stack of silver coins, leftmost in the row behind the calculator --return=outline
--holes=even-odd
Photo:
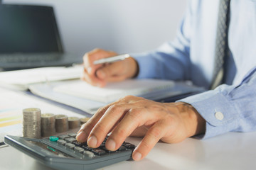
[[[23,137],[41,138],[41,110],[23,109]]]

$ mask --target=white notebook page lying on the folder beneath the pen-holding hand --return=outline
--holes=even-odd
[[[55,86],[53,91],[86,98],[92,101],[110,103],[127,95],[157,99],[156,95],[169,91],[174,81],[159,79],[128,79],[121,82],[108,83],[104,88],[92,86],[85,81],[72,81]],[[160,97],[160,96],[159,96]]]

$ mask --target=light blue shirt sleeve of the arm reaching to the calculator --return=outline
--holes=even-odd
[[[225,132],[256,130],[256,67],[237,86],[221,85],[215,90],[180,100],[191,104],[206,120],[201,138]]]

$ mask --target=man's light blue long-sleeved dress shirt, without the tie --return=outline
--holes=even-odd
[[[139,64],[138,78],[191,80],[208,89],[218,6],[217,0],[189,1],[174,41],[133,56]],[[181,100],[206,120],[203,138],[256,130],[256,0],[231,0],[228,45],[225,84]]]

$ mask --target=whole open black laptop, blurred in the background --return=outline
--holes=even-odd
[[[64,52],[53,7],[0,4],[0,68],[70,66],[82,57]]]

